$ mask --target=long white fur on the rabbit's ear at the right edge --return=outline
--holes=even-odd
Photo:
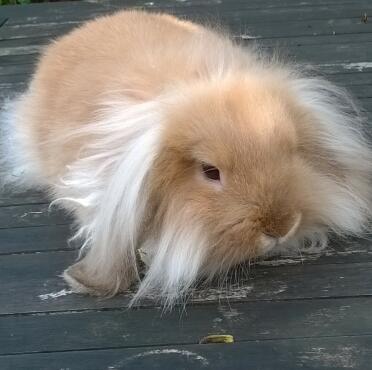
[[[366,140],[363,117],[344,89],[320,78],[289,80],[299,104],[316,118],[317,142],[331,153],[336,166],[347,171],[343,181],[329,183],[324,222],[339,235],[359,235],[371,218],[371,147]],[[330,158],[323,158],[331,163]],[[321,208],[321,205],[319,205]]]

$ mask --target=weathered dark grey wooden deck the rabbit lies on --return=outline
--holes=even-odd
[[[0,99],[24,90],[53,37],[140,6],[218,20],[249,43],[282,47],[346,86],[372,125],[370,0],[140,0],[0,7]],[[368,15],[371,16],[368,19]],[[372,165],[372,164],[371,164]],[[230,290],[199,291],[162,314],[128,296],[71,294],[58,276],[76,257],[70,220],[43,194],[0,197],[0,369],[372,369],[372,243],[261,263]],[[234,344],[198,344],[227,333]]]

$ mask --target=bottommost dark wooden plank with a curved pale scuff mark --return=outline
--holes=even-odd
[[[0,362],[3,370],[367,370],[372,336],[52,352],[1,356]]]

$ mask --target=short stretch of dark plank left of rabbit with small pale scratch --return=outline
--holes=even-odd
[[[65,225],[71,219],[49,204],[26,204],[0,208],[0,229],[25,226]]]

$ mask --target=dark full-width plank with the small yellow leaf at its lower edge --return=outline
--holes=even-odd
[[[372,335],[371,303],[372,297],[2,316],[0,354],[191,344],[216,333],[236,341]]]

